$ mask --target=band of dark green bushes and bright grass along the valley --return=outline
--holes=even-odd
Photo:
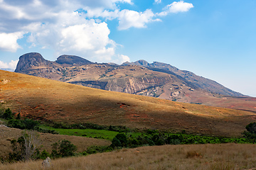
[[[207,137],[199,135],[186,134],[183,131],[180,134],[171,134],[169,132],[161,132],[159,130],[146,130],[144,132],[134,132],[124,126],[105,126],[96,125],[92,123],[76,123],[73,125],[65,125],[63,123],[46,123],[41,125],[37,120],[29,118],[21,118],[21,115],[17,115],[14,118],[14,114],[8,108],[5,111],[0,111],[0,118],[7,120],[7,125],[12,128],[19,128],[22,130],[37,130],[38,132],[51,132],[62,133],[65,135],[74,135],[74,133],[68,134],[68,132],[75,132],[77,135],[92,137],[85,135],[85,132],[79,133],[79,130],[94,129],[95,133],[99,131],[103,133],[112,132],[112,137],[107,137],[108,140],[112,140],[110,146],[92,146],[88,147],[82,155],[95,154],[98,152],[110,152],[114,149],[121,148],[134,148],[141,146],[154,146],[154,145],[187,145],[187,144],[220,144],[220,143],[255,143],[256,142],[256,123],[250,123],[246,126],[244,137],[231,138],[231,137]],[[43,128],[42,128],[43,127]],[[58,131],[58,132],[56,132]],[[52,152],[49,154],[46,150],[39,152],[41,148],[36,145],[37,135],[34,131],[23,131],[21,137],[17,140],[11,140],[12,152],[9,154],[9,162],[16,162],[21,160],[30,159],[45,159],[46,157],[58,158],[58,157],[70,157],[74,156],[77,147],[68,140],[61,140],[55,142],[52,145]],[[95,136],[95,138],[105,138]],[[27,140],[32,140],[32,145],[28,146]]]

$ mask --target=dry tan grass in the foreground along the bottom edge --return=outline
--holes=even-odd
[[[252,169],[256,145],[164,145],[52,160],[50,169]],[[43,169],[42,161],[0,164],[2,170]]]

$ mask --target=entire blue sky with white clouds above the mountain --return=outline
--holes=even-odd
[[[165,62],[256,97],[256,1],[0,0],[0,68],[28,52]]]

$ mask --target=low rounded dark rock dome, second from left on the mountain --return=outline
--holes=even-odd
[[[71,64],[71,65],[87,65],[91,64],[89,60],[85,60],[82,57],[78,57],[75,55],[61,55],[56,60],[58,64]]]

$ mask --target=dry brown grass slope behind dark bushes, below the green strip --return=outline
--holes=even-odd
[[[21,136],[21,131],[15,128],[4,128],[0,127],[0,157],[6,157],[11,152],[11,140],[18,139]],[[75,146],[78,147],[78,152],[83,152],[92,145],[95,146],[107,146],[111,142],[108,140],[98,140],[88,137],[76,137],[68,135],[53,135],[48,133],[40,133],[42,149],[46,149],[47,152],[51,152],[51,145],[58,140],[69,140]]]

